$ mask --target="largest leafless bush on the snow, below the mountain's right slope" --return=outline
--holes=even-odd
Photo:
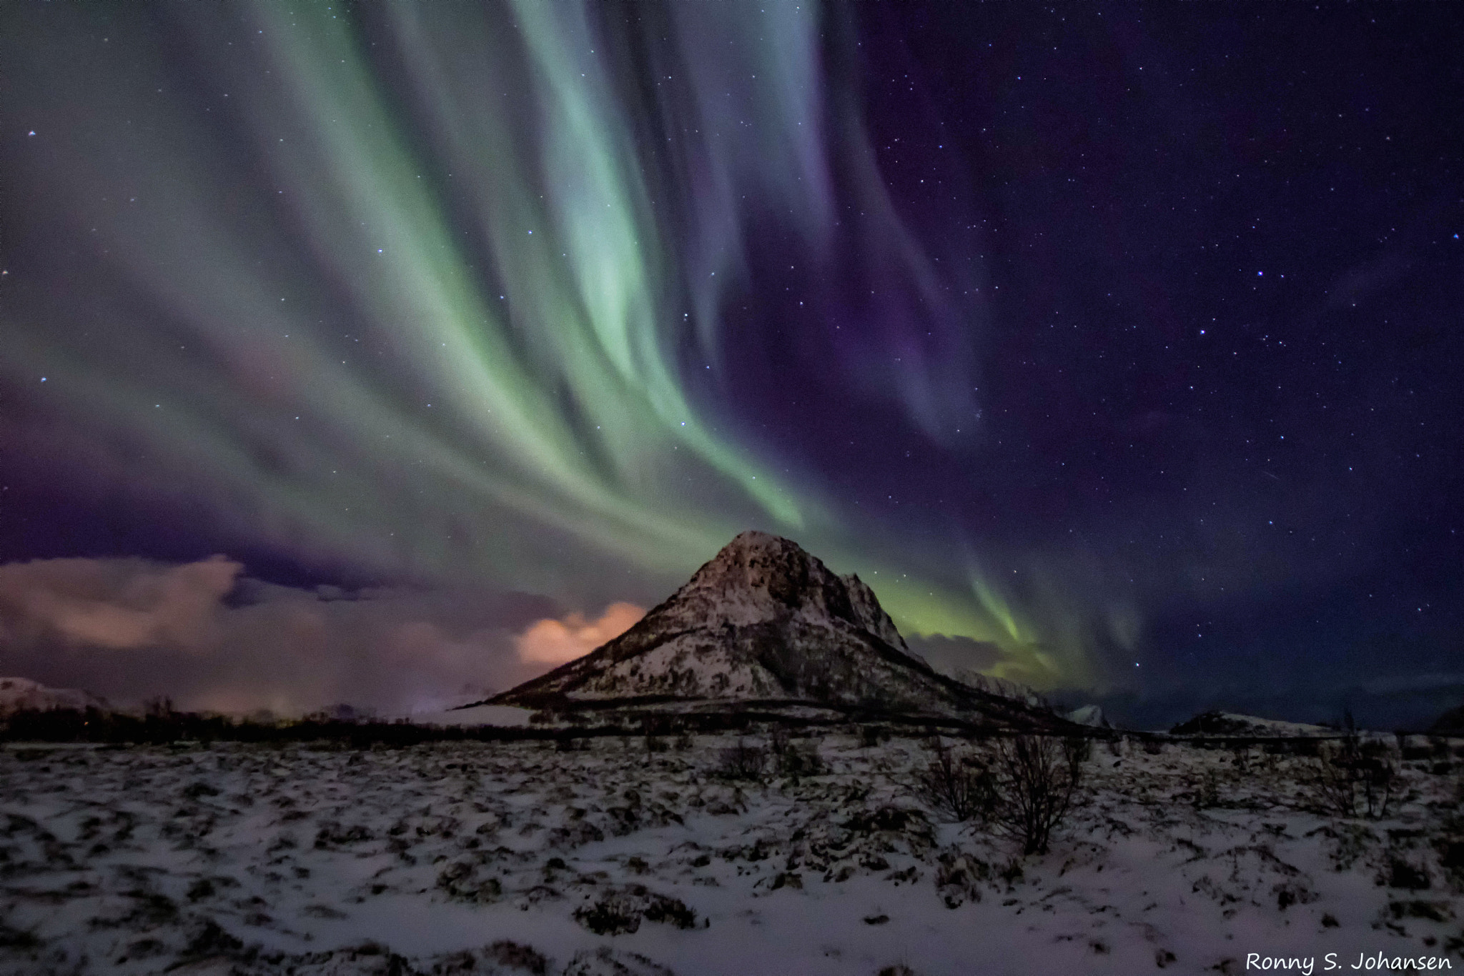
[[[1053,830],[1078,799],[1091,749],[1088,739],[1023,735],[997,740],[991,825],[1020,840],[1023,855],[1045,853]]]

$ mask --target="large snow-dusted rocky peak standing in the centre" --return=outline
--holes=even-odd
[[[1050,711],[937,673],[874,591],[796,543],[742,533],[625,634],[489,699],[572,708],[779,702],[1072,729]]]

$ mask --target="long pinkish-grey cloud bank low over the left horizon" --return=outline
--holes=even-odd
[[[515,634],[562,612],[471,585],[281,587],[223,556],[37,560],[0,566],[0,675],[119,704],[168,695],[228,713],[350,702],[407,714],[543,670],[518,654]]]

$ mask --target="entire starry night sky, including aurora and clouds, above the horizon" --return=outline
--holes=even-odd
[[[386,713],[735,533],[1162,724],[1464,699],[1454,4],[9,4],[0,673]]]

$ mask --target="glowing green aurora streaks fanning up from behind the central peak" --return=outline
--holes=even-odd
[[[40,133],[56,167],[34,179],[146,307],[76,331],[7,313],[0,369],[95,432],[78,465],[305,560],[590,606],[758,525],[871,579],[903,629],[998,645],[994,673],[1094,680],[1092,623],[1056,582],[1017,606],[969,552],[916,558],[709,394],[748,200],[827,250],[834,154],[878,260],[940,287],[826,78],[829,25],[647,4],[612,29],[608,9],[384,4],[367,31],[269,1],[228,10],[242,45],[221,7],[177,7],[206,92],[158,82],[176,51],[111,25],[114,60],[56,94],[105,119],[89,143]],[[104,91],[113,73],[130,80]],[[900,369],[918,427],[974,410],[944,402],[971,389],[950,366]],[[1099,629],[1136,637],[1121,612]]]

